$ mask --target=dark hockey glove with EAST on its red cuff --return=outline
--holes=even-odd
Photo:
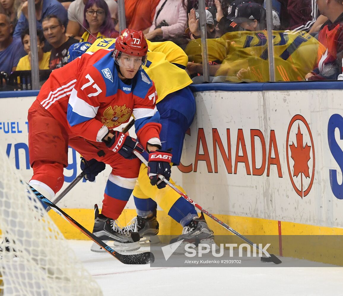
[[[165,188],[166,186],[166,183],[158,178],[158,175],[162,175],[167,180],[170,179],[171,156],[169,150],[158,149],[149,153],[148,176],[150,178],[150,184],[156,185],[158,189]]]

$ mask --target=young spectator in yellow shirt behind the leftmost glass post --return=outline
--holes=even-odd
[[[21,35],[24,50],[27,55],[23,56],[17,65],[17,71],[31,70],[31,51],[30,51],[30,35],[28,29]],[[49,69],[50,52],[43,52],[44,35],[42,30],[37,30],[37,45],[38,45],[38,63],[40,70]]]

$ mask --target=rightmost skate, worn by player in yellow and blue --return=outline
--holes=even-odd
[[[175,239],[170,240],[170,244],[176,243],[178,241],[184,240],[180,246],[174,251],[174,253],[185,253],[185,245],[190,243],[198,247],[201,244],[208,244],[210,247],[213,246],[215,249],[218,247],[214,242],[213,231],[207,225],[204,214],[201,213],[199,218],[195,218],[189,222],[189,224],[184,227],[182,234]]]

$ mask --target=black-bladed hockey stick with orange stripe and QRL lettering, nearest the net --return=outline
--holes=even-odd
[[[32,186],[30,186],[29,184],[27,184],[27,186],[29,186],[29,188],[32,190],[32,192],[42,202],[44,202],[46,205],[50,206],[51,209],[54,210],[58,215],[60,215],[62,218],[67,220],[70,224],[72,224],[77,229],[79,229],[81,232],[83,232],[93,242],[97,243],[107,253],[111,254],[113,257],[118,259],[120,262],[122,262],[124,264],[147,264],[147,263],[153,263],[154,262],[155,258],[154,258],[154,255],[151,252],[144,252],[144,253],[132,254],[132,255],[122,255],[122,254],[116,252],[114,249],[112,249],[107,244],[105,244],[102,240],[100,240],[97,236],[95,236],[92,232],[90,232],[86,228],[84,228],[79,222],[75,221],[67,213],[65,213],[63,210],[61,210],[58,206],[56,206],[54,203],[50,202],[45,196],[40,194]]]

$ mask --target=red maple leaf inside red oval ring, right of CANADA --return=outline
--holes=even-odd
[[[296,124],[297,131],[295,133]],[[292,128],[293,126],[294,128]],[[303,129],[304,132],[302,132],[301,129]],[[306,139],[304,139],[305,133]],[[292,138],[295,139],[292,141]],[[292,144],[289,144],[289,142],[292,142]],[[303,116],[295,115],[292,118],[288,126],[286,143],[289,178],[291,179],[296,193],[303,198],[311,190],[315,173],[315,150],[312,133]],[[291,152],[290,156],[289,151]],[[293,160],[293,167],[289,161],[289,157]]]

